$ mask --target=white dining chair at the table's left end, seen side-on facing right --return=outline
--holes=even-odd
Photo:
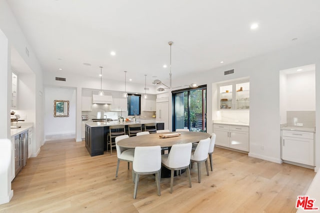
[[[114,139],[115,141],[115,148],[116,148],[116,157],[118,158],[117,164],[116,164],[116,171],[115,171],[115,177],[118,177],[118,170],[119,170],[119,164],[120,161],[126,161],[128,162],[128,170],[130,167],[130,163],[133,161],[133,155],[134,155],[134,149],[127,149],[122,148],[117,145],[117,143],[125,138],[128,138],[128,135],[121,135]]]

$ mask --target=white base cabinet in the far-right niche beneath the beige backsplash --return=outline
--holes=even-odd
[[[282,160],[314,166],[314,133],[282,130]]]

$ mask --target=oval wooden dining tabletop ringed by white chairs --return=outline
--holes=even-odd
[[[180,133],[181,135],[177,137],[170,138],[161,138],[159,136]],[[171,147],[174,144],[187,144],[187,143],[196,143],[200,140],[209,138],[210,134],[205,132],[165,132],[165,133],[154,133],[148,135],[141,135],[122,139],[117,142],[119,147],[123,148],[135,148],[135,147],[146,147],[146,146],[160,146]]]

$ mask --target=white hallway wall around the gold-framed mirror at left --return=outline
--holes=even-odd
[[[44,93],[44,135],[75,134],[75,89],[46,87]],[[54,100],[69,101],[69,117],[53,116]]]

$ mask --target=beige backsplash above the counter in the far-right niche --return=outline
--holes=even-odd
[[[313,128],[315,126],[315,111],[286,111],[286,122],[288,126]]]

